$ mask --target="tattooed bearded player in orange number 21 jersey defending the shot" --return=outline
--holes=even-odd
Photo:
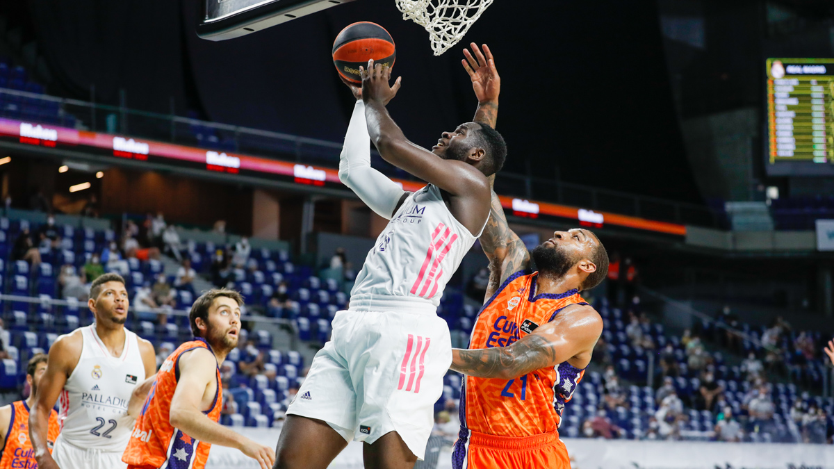
[[[490,259],[487,300],[469,350],[453,350],[466,375],[455,469],[570,468],[561,412],[590,363],[600,315],[580,296],[605,279],[608,255],[587,229],[556,231],[529,253],[493,192],[480,241]],[[530,255],[538,272],[530,272]]]

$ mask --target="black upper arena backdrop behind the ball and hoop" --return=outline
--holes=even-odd
[[[128,107],[339,140],[351,98],[330,60],[349,23],[384,25],[404,88],[390,104],[410,139],[432,144],[471,119],[464,43],[488,43],[502,75],[508,171],[699,201],[666,73],[653,0],[494,3],[440,58],[393,0],[359,0],[220,43],[197,38],[197,0],[30,1],[39,50],[62,93]]]

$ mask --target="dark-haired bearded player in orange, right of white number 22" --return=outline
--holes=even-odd
[[[220,425],[220,366],[238,345],[240,305],[234,290],[208,290],[191,306],[194,340],[163,361],[133,426],[122,461],[128,469],[203,469],[212,445],[238,448],[269,469],[275,451]]]

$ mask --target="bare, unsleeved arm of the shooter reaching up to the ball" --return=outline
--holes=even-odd
[[[480,170],[456,159],[441,159],[429,150],[409,142],[403,131],[394,123],[394,119],[391,119],[385,103],[396,93],[395,88],[400,81],[397,78],[394,88],[389,87],[390,68],[382,68],[379,64],[374,66],[371,60],[368,70],[362,68],[362,74],[362,99],[365,103],[368,133],[382,158],[420,179],[435,184],[452,196],[486,200],[490,187]],[[465,128],[458,129],[460,133],[467,131]],[[460,221],[467,225],[465,220]]]

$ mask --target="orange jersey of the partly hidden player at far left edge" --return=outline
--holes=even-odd
[[[49,414],[47,430],[47,446],[50,453],[60,431],[58,412],[53,410]],[[12,417],[8,422],[3,451],[0,451],[0,469],[18,469],[18,467],[21,469],[38,467],[32,441],[29,441],[29,406],[26,405],[26,401],[12,403]]]

